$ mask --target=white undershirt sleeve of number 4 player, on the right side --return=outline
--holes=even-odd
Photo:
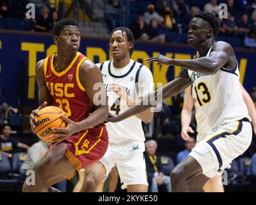
[[[139,97],[143,97],[153,91],[153,75],[146,66],[143,66],[139,72]]]

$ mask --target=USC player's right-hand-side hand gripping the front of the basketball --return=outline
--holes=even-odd
[[[70,136],[74,135],[74,133],[78,133],[81,131],[78,122],[74,122],[73,120],[68,119],[64,115],[62,115],[62,118],[65,120],[67,126],[65,128],[53,128],[53,130],[56,131],[55,134],[51,135],[51,138],[55,138],[54,140],[51,141],[54,145],[66,140]]]

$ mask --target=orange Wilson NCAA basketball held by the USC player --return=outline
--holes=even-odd
[[[67,117],[67,114],[62,109],[55,106],[46,106],[38,111],[38,120],[35,122],[35,134],[41,140],[51,142],[55,138],[49,138],[50,135],[56,133],[53,127],[66,127],[65,120],[62,115]]]

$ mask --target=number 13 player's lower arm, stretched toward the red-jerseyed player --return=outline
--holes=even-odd
[[[119,122],[131,117],[132,115],[141,113],[144,110],[148,110],[148,108],[157,105],[158,102],[162,103],[162,99],[179,94],[189,85],[191,85],[191,80],[189,79],[187,72],[184,71],[182,74],[180,74],[180,76],[178,76],[178,78],[167,83],[161,88],[158,88],[155,92],[145,95],[139,104],[132,106],[132,108],[129,108],[120,115],[110,115],[107,122]],[[152,101],[152,99],[155,99],[155,101]],[[147,103],[145,104],[144,102]]]

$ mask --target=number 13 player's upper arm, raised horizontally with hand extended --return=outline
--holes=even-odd
[[[234,51],[230,44],[227,44],[226,42],[216,42],[216,44],[214,44],[214,49],[209,56],[192,60],[178,60],[158,55],[148,58],[146,61],[148,61],[148,63],[156,61],[158,64],[175,65],[195,72],[214,74],[226,64],[228,58],[233,53]]]

